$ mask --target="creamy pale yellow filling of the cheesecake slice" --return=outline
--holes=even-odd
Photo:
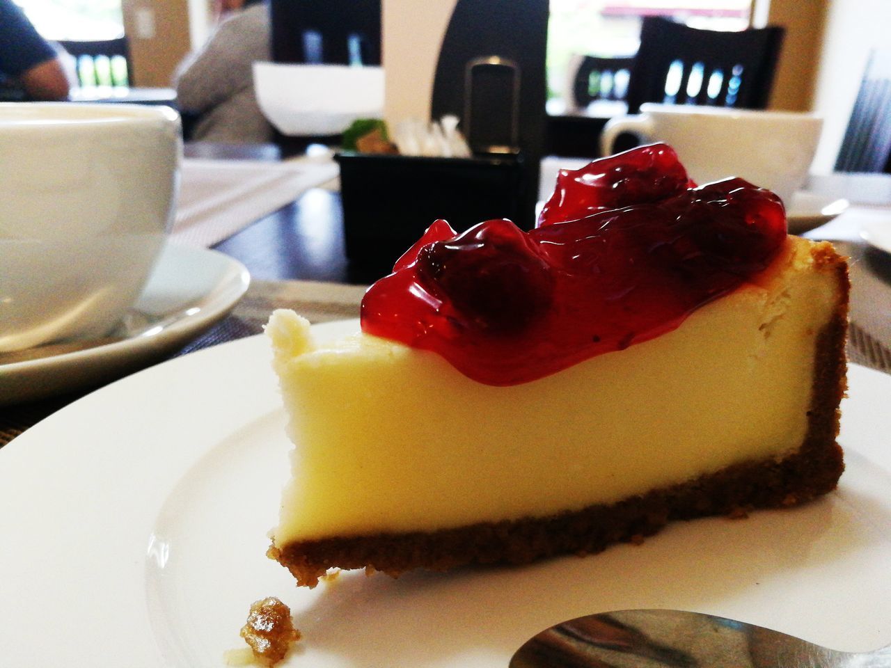
[[[274,543],[547,517],[794,452],[838,294],[811,248],[790,237],[677,330],[510,387],[369,335],[315,346],[276,312],[297,447]]]

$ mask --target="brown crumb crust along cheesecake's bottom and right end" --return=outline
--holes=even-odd
[[[798,452],[775,461],[725,468],[683,485],[611,505],[552,517],[462,526],[433,533],[375,534],[271,546],[267,556],[286,566],[300,586],[315,587],[330,568],[366,568],[396,576],[415,568],[526,564],[563,554],[593,554],[616,542],[641,542],[668,522],[810,501],[836,488],[844,470],[838,403],[846,390],[847,265],[830,244],[814,248],[821,271],[835,273],[838,308],[817,339],[809,426]]]

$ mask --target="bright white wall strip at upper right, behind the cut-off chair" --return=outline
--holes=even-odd
[[[814,172],[832,171],[867,58],[873,48],[891,48],[889,36],[889,0],[830,0],[813,104],[824,119]]]

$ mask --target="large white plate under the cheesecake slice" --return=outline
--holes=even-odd
[[[264,556],[290,450],[270,357],[262,337],[184,355],[0,450],[4,664],[221,666],[243,647],[249,604],[271,595],[305,634],[286,665],[312,668],[504,668],[552,623],[629,607],[729,615],[841,649],[891,641],[885,374],[852,367],[846,473],[805,507],[682,522],[587,558],[350,573],[304,591]]]

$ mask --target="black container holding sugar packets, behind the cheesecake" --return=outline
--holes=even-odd
[[[456,232],[492,218],[524,229],[534,212],[518,156],[424,158],[343,152],[344,240],[351,265],[386,273],[437,218]]]

